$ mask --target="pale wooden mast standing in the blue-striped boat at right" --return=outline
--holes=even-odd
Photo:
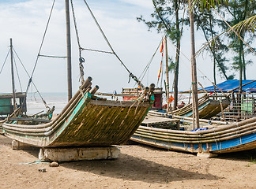
[[[198,78],[197,78],[197,65],[195,60],[195,47],[194,47],[194,13],[191,0],[189,1],[190,9],[190,37],[191,37],[191,72],[192,72],[192,96],[193,96],[193,128],[199,128],[199,113],[198,113]],[[195,122],[195,123],[194,123]]]

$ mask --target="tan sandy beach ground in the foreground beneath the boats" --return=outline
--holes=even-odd
[[[0,188],[256,188],[256,151],[198,158],[144,145],[119,146],[117,160],[39,164],[39,149],[12,150],[0,135]],[[39,172],[46,168],[47,172]]]

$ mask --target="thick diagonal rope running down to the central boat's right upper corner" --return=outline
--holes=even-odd
[[[88,4],[87,4],[87,2],[86,2],[85,0],[84,0],[84,2],[85,2],[85,6],[87,6],[88,11],[91,13],[91,16],[92,16],[93,20],[95,21],[97,27],[99,28],[101,34],[103,35],[105,41],[107,42],[107,45],[108,45],[108,46],[110,47],[110,49],[112,50],[112,53],[115,54],[115,57],[118,58],[118,60],[119,60],[119,61],[121,62],[121,64],[122,64],[122,66],[126,69],[127,72],[129,72],[129,81],[128,81],[128,83],[130,83],[130,78],[133,78],[133,79],[137,82],[137,84],[138,84],[139,86],[141,86],[141,87],[144,89],[145,87],[144,87],[144,85],[141,83],[141,81],[139,81],[139,80],[137,79],[137,77],[134,76],[134,74],[133,74],[132,72],[130,72],[130,70],[129,70],[129,69],[126,67],[126,65],[122,62],[122,60],[120,59],[120,57],[115,53],[115,51],[114,51],[114,49],[112,48],[111,44],[110,44],[109,41],[107,40],[107,36],[104,34],[104,31],[102,30],[102,28],[100,27],[100,24],[99,24],[98,21],[96,20],[96,17],[94,17],[94,15],[93,15],[93,13],[92,13],[92,10],[90,9],[90,7],[88,6]]]

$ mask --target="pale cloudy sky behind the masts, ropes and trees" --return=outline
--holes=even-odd
[[[13,39],[13,48],[21,58],[28,73],[36,63],[36,57],[43,39],[47,19],[51,10],[52,0],[4,0],[0,2],[0,69],[9,51],[9,39]],[[160,43],[163,34],[155,30],[148,31],[143,23],[139,23],[136,17],[143,15],[150,19],[153,12],[151,1],[147,0],[88,0],[88,5],[95,14],[101,28],[107,35],[107,39],[113,46],[115,53],[119,55],[130,72],[140,76],[145,66],[149,63],[152,54]],[[78,35],[81,46],[89,49],[110,51],[107,43],[100,34],[99,29],[92,20],[82,0],[73,0]],[[70,17],[71,20],[72,17]],[[53,56],[66,56],[66,21],[64,0],[56,0],[49,28],[45,36],[40,54]],[[71,22],[72,35],[72,76],[73,93],[79,86],[78,49],[75,31]],[[204,43],[201,32],[196,33],[196,49]],[[179,72],[179,89],[188,90],[191,85],[190,77],[190,32],[185,29],[181,45],[183,53]],[[168,54],[175,57],[175,47],[168,44]],[[100,92],[122,91],[122,87],[134,87],[134,81],[129,80],[129,73],[112,54],[99,54],[96,52],[83,51],[85,58],[85,78],[92,76],[92,85],[99,85]],[[160,68],[160,52],[156,52],[149,72],[145,75],[142,83],[148,85],[157,82],[157,75]],[[15,57],[18,75],[15,76],[16,91],[25,91],[28,84],[28,76],[24,72],[20,61]],[[198,57],[198,80],[205,87],[213,81],[213,63],[209,54]],[[248,68],[247,78],[254,79],[255,65]],[[209,80],[205,79],[209,77]],[[172,86],[173,74],[170,76]],[[236,79],[238,76],[236,76]],[[40,57],[33,75],[34,83],[41,92],[66,92],[66,59]],[[9,57],[6,65],[0,73],[0,92],[11,92],[11,76]],[[220,76],[218,82],[224,81]],[[21,83],[21,87],[20,87]],[[30,87],[29,92],[36,91]]]

